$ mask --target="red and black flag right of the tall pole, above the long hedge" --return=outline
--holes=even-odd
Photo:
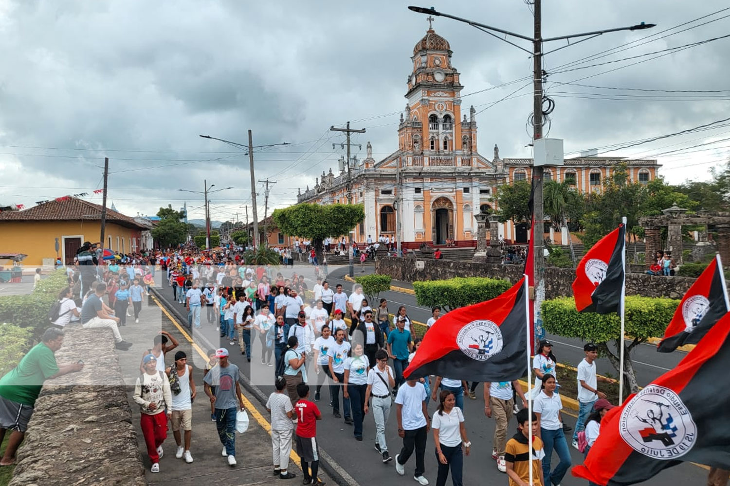
[[[580,260],[573,295],[578,312],[619,313],[626,271],[626,224],[604,236]]]

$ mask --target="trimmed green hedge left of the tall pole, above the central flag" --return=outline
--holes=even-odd
[[[451,278],[428,282],[413,282],[418,305],[449,310],[484,302],[509,290],[512,284],[496,278]]]

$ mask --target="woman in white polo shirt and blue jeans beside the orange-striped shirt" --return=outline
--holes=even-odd
[[[542,459],[542,474],[545,484],[559,485],[570,467],[570,451],[563,433],[560,411],[563,402],[556,393],[556,382],[553,375],[542,375],[542,389],[535,399],[533,410],[540,423],[540,439],[545,446],[545,458]],[[550,458],[553,449],[558,453],[560,463],[550,473]]]

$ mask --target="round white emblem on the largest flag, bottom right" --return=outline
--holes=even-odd
[[[619,431],[632,449],[661,460],[680,458],[697,439],[697,426],[680,396],[658,385],[649,385],[629,401]]]

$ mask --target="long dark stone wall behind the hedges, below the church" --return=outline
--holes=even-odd
[[[416,268],[416,262],[423,262],[423,270]],[[399,281],[429,281],[455,277],[504,278],[516,282],[522,278],[522,265],[502,265],[453,260],[430,260],[412,258],[382,258],[375,262],[376,273],[390,275]],[[572,296],[575,269],[545,268],[545,297]],[[670,297],[680,299],[694,283],[694,278],[661,277],[644,273],[626,275],[626,295],[643,297]]]

